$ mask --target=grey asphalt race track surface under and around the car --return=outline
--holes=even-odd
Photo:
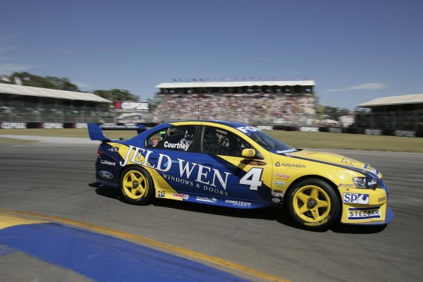
[[[394,219],[383,230],[336,225],[317,233],[293,226],[283,209],[168,200],[145,207],[125,204],[117,191],[94,183],[97,145],[74,140],[0,144],[0,208],[104,226],[291,281],[422,280],[423,154],[331,150],[384,173]],[[40,263],[26,258],[18,269],[25,273]],[[1,261],[1,273],[16,271],[13,264]],[[56,269],[49,267],[54,277]],[[71,281],[85,281],[72,275]]]

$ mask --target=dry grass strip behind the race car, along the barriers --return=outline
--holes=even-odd
[[[264,130],[266,133],[278,138],[282,142],[297,148],[322,148],[322,149],[359,149],[369,151],[389,152],[423,152],[423,138],[397,137],[379,135],[359,135],[347,133],[316,133],[283,130]],[[1,135],[35,135],[52,137],[82,137],[89,138],[87,129],[1,129],[0,142],[8,142]],[[128,139],[136,133],[133,130],[105,132],[107,137]],[[15,140],[15,139],[12,139]],[[25,142],[9,141],[9,142]]]

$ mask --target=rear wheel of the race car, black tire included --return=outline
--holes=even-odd
[[[125,201],[130,204],[149,204],[154,197],[152,177],[144,168],[138,166],[123,169],[119,188]]]

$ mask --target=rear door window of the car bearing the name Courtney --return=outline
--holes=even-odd
[[[169,128],[164,137],[163,149],[191,152],[196,130],[197,126]]]

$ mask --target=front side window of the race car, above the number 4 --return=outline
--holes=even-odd
[[[245,140],[234,133],[210,126],[204,128],[202,152],[206,154],[240,157],[243,149],[250,147]]]

